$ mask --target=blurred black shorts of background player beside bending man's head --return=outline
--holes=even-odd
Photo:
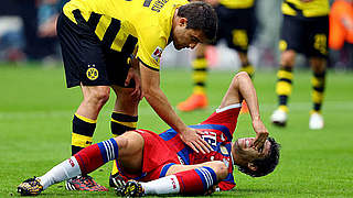
[[[257,20],[254,7],[228,9],[220,6],[215,10],[218,16],[217,42],[225,38],[229,48],[246,53],[256,30]]]

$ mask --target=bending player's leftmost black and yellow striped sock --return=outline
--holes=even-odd
[[[96,123],[97,120],[92,120],[75,113],[71,142],[72,155],[92,144]]]

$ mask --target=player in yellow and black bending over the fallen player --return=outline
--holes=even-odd
[[[188,128],[160,88],[160,57],[173,42],[176,50],[214,40],[217,18],[206,3],[186,0],[71,0],[57,21],[67,87],[83,92],[73,119],[72,154],[93,142],[97,117],[117,95],[111,113],[115,136],[136,129],[142,96],[159,117],[192,148],[210,145]],[[142,85],[142,86],[141,86]],[[143,94],[143,95],[142,95]],[[117,170],[113,170],[113,175]],[[67,189],[107,190],[92,177],[68,180]]]

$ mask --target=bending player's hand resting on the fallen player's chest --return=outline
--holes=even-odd
[[[186,128],[186,130],[182,131],[180,133],[181,140],[189,145],[192,150],[194,150],[196,153],[210,153],[212,151],[211,145],[204,141],[201,135],[204,133],[202,131],[197,131],[192,128]]]

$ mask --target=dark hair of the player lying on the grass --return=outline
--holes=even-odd
[[[278,144],[272,138],[268,138],[267,140],[271,143],[269,155],[265,158],[255,160],[252,162],[255,166],[257,166],[256,170],[252,170],[247,166],[239,166],[238,169],[240,172],[252,177],[261,177],[274,172],[279,161],[280,144]]]

